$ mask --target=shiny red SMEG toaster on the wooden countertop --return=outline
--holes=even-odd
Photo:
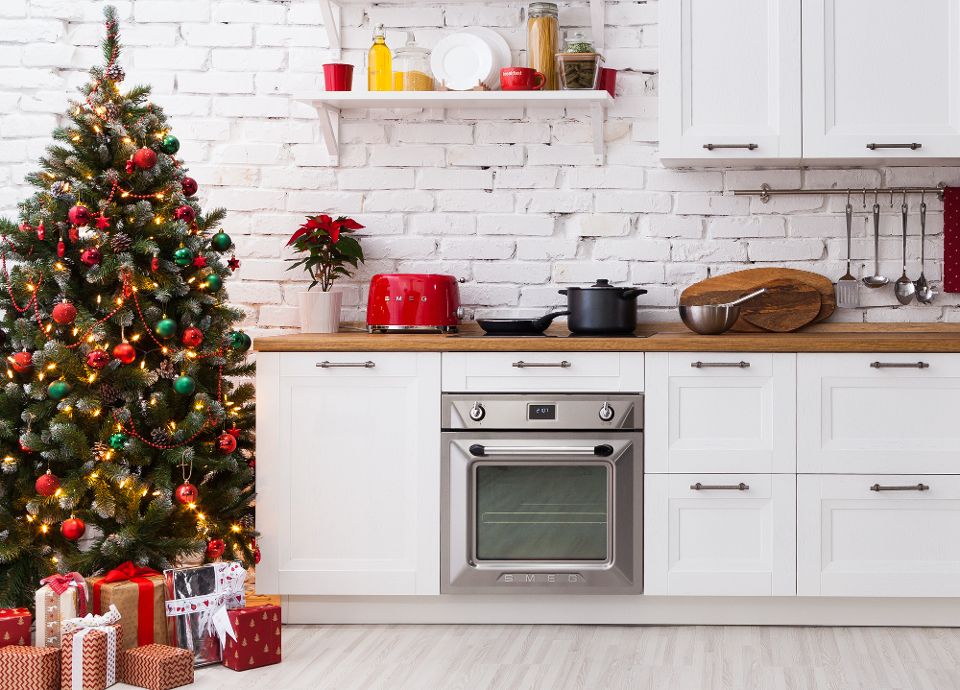
[[[371,333],[455,333],[463,316],[453,276],[378,273],[370,279],[367,330]]]

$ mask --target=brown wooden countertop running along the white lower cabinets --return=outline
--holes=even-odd
[[[257,338],[260,352],[960,352],[960,324],[817,324],[798,333],[697,335],[647,324],[639,338],[295,333]],[[566,331],[554,331],[565,334]]]

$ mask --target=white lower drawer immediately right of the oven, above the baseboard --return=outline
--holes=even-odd
[[[796,477],[644,478],[644,594],[796,594]]]

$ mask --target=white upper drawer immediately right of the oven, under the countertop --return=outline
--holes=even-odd
[[[796,355],[646,357],[647,472],[795,472]]]

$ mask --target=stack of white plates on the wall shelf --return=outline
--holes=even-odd
[[[478,26],[446,36],[430,56],[430,69],[451,91],[468,91],[481,82],[500,88],[500,70],[510,66],[510,46],[492,29]]]

